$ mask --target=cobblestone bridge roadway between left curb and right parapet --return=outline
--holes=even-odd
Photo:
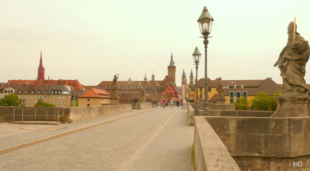
[[[192,170],[187,115],[178,109],[152,110],[2,154],[0,170],[117,170],[144,148],[132,170]],[[152,155],[159,163],[144,163]]]

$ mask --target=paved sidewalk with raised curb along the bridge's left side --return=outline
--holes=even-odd
[[[155,108],[160,109],[160,108]],[[88,129],[118,119],[130,117],[139,113],[155,110],[154,108],[132,110],[131,112],[117,113],[104,117],[61,124],[61,125],[21,125],[13,123],[0,123],[0,155],[22,147],[54,139],[73,132]]]

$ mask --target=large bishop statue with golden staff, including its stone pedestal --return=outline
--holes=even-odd
[[[304,76],[306,63],[309,60],[310,46],[308,41],[296,31],[297,26],[290,22],[287,27],[288,41],[280,53],[280,57],[273,66],[278,66],[282,77],[280,96],[274,97],[277,101],[277,110],[270,117],[309,117],[308,87]]]

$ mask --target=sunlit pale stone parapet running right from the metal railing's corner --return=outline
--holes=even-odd
[[[107,116],[114,113],[131,111],[131,105],[103,105],[91,107],[67,108],[67,121],[69,123],[91,119],[97,116]]]

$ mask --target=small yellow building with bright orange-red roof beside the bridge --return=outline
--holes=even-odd
[[[91,88],[78,96],[78,107],[101,106],[110,103],[110,93],[106,90]]]

